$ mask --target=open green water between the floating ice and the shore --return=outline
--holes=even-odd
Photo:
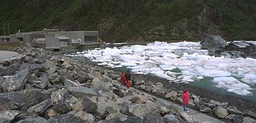
[[[84,56],[72,56],[73,59],[77,60],[77,61],[81,61],[81,62],[85,62],[85,63],[89,63],[89,64],[97,64],[97,62],[92,62],[90,61],[88,58],[85,58]],[[120,68],[111,68],[114,71],[127,71],[126,67],[120,67]],[[173,69],[172,72],[176,72],[176,73],[180,73],[180,69]],[[178,74],[177,77],[181,75]],[[236,77],[234,77],[236,78]],[[241,78],[236,78],[239,81],[241,81]],[[203,79],[200,79],[200,81],[194,81],[194,82],[190,82],[190,85],[193,85],[194,87],[197,88],[202,88],[202,89],[206,89],[209,90],[211,92],[215,92],[216,94],[219,95],[226,95],[226,96],[231,96],[231,97],[238,97],[238,98],[243,98],[243,99],[247,99],[249,101],[256,101],[256,89],[250,90],[250,92],[252,92],[252,95],[247,95],[247,96],[242,96],[242,95],[237,95],[234,94],[232,92],[228,92],[225,89],[222,88],[217,88],[215,87],[215,83],[212,82],[213,78],[212,77],[204,77]],[[251,88],[256,88],[256,85],[254,85]]]

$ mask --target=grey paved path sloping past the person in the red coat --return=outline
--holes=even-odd
[[[137,90],[137,91],[139,91],[139,90]],[[159,99],[159,101],[163,102],[165,105],[172,105],[172,106],[175,106],[178,109],[180,109],[180,111],[183,111],[183,107],[181,105],[174,104],[174,103],[169,102],[169,101],[167,101],[165,99],[154,97],[153,95],[149,95],[146,92],[142,92],[142,91],[140,91],[140,92],[141,92],[141,94],[144,94],[147,97],[153,97],[153,98]],[[195,111],[193,109],[189,109],[188,108],[188,110],[190,111],[190,116],[194,119],[194,121],[197,121],[197,122],[206,122],[207,121],[207,122],[211,122],[211,123],[225,123],[223,121],[220,121],[219,119],[210,117],[210,116],[208,116],[206,114],[203,114],[201,112]]]

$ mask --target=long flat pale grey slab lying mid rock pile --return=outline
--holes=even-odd
[[[71,94],[77,98],[83,97],[91,97],[91,96],[98,96],[98,92],[94,89],[87,88],[87,87],[68,87],[67,88]]]

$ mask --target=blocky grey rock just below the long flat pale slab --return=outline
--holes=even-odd
[[[95,102],[92,102],[91,99],[84,97],[81,101],[78,101],[74,106],[73,109],[78,111],[85,111],[89,114],[94,114],[97,110],[98,106]]]

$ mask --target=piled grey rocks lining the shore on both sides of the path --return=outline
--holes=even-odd
[[[196,122],[193,117],[140,94],[142,89],[181,102],[181,89],[136,79],[135,88],[119,75],[43,49],[12,48],[23,56],[0,64],[0,123]],[[229,122],[255,122],[255,113],[227,102],[190,95],[190,107]]]

